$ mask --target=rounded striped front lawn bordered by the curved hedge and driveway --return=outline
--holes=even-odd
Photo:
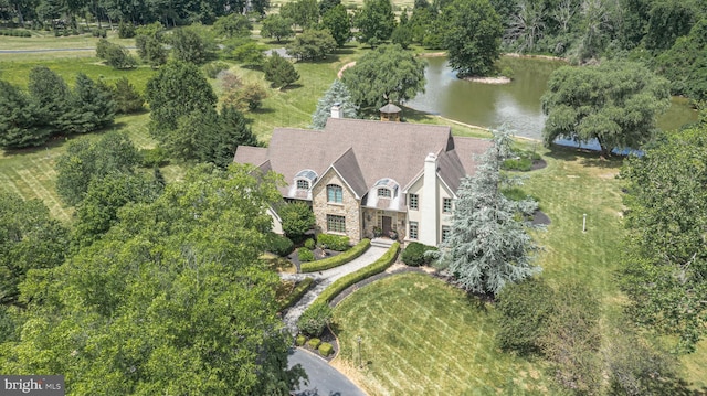
[[[342,347],[334,365],[371,395],[547,394],[537,364],[495,347],[492,314],[426,275],[386,278],[336,308]]]

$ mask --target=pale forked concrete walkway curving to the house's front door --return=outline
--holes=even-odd
[[[281,274],[279,277],[283,280],[302,280],[306,277],[310,277],[317,281],[317,285],[306,295],[304,295],[302,299],[297,301],[297,303],[288,309],[287,313],[283,318],[283,321],[285,322],[285,325],[287,327],[289,332],[293,335],[297,334],[297,320],[302,315],[302,312],[304,312],[307,307],[309,307],[312,302],[314,302],[314,300],[319,297],[324,289],[326,289],[329,285],[334,283],[335,280],[341,278],[342,276],[355,272],[376,261],[386,251],[388,251],[388,249],[384,247],[371,246],[360,257],[336,268],[309,274]]]

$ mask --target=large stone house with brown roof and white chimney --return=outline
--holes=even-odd
[[[283,174],[283,197],[309,203],[325,233],[443,242],[461,179],[492,142],[453,137],[450,127],[337,116],[324,130],[277,128],[267,148],[239,146],[234,160]]]

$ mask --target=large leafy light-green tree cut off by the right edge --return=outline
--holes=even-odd
[[[693,352],[707,334],[707,127],[667,135],[621,171],[631,317]]]

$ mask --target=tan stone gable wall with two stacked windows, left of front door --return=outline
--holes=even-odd
[[[337,184],[342,189],[341,203],[328,202],[327,185]],[[341,176],[330,168],[319,178],[312,191],[312,210],[317,220],[317,226],[323,233],[348,235],[351,243],[361,240],[361,203],[356,194],[346,185]],[[346,233],[327,231],[327,214],[344,216],[346,218]]]

